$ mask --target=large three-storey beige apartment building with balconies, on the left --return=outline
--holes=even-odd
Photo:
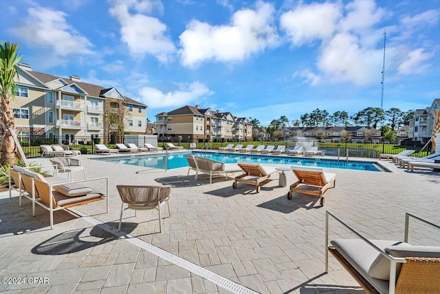
[[[147,106],[121,94],[81,82],[80,77],[63,78],[20,63],[12,101],[17,134],[21,136],[110,136],[145,134]]]

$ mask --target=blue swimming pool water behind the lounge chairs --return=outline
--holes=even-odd
[[[281,157],[281,156],[258,156],[249,154],[217,154],[202,152],[186,152],[179,154],[168,154],[168,169],[177,169],[179,167],[188,167],[186,154],[195,156],[203,156],[213,160],[219,160],[225,163],[260,162],[262,164],[270,163],[275,165],[305,165],[311,167],[331,167],[336,169],[357,169],[361,171],[382,171],[377,165],[371,162],[330,160],[322,158],[297,158],[297,157]],[[165,169],[165,154],[136,155],[113,158],[99,158],[108,162],[115,162],[124,165],[136,165],[138,167],[151,167],[155,169]]]

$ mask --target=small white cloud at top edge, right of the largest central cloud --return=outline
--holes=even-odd
[[[329,38],[341,17],[338,3],[300,5],[281,15],[281,28],[294,45],[303,45],[316,39]]]

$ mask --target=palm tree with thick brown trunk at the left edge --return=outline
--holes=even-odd
[[[11,165],[17,162],[15,158],[15,142],[10,129],[15,131],[14,112],[11,100],[17,90],[14,78],[18,76],[17,66],[21,61],[21,54],[17,52],[19,46],[12,42],[0,41],[0,87],[1,87],[1,156],[0,165]]]

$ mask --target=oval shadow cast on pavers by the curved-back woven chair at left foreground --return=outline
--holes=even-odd
[[[114,223],[111,222],[107,223],[107,225],[111,227],[113,227],[113,224]],[[116,223],[116,226],[117,225],[118,223]],[[128,234],[126,228],[134,229],[136,227],[135,225],[126,224],[124,233]],[[118,239],[117,235],[106,231],[100,226],[102,226],[102,224],[97,224],[89,233],[85,233],[87,228],[59,233],[34,246],[31,252],[37,255],[63,255],[83,251]],[[87,238],[93,239],[94,241],[89,241]]]

